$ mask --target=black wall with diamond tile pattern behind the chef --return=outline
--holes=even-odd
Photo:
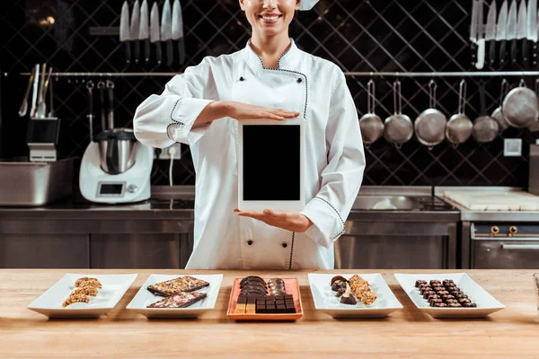
[[[48,62],[60,72],[181,72],[184,67],[126,66],[118,36],[91,35],[94,27],[118,27],[121,0],[16,0],[2,2],[0,66],[2,76],[2,155],[27,153],[28,119],[18,118],[27,77],[36,63]],[[162,9],[163,0],[158,0]],[[129,4],[133,4],[129,0]],[[149,1],[149,5],[153,1]],[[181,0],[186,33],[187,64],[243,48],[250,36],[236,0]],[[321,0],[311,12],[301,12],[291,27],[300,48],[338,64],[345,72],[473,71],[468,47],[472,0]],[[164,48],[163,48],[164,49]],[[499,68],[490,68],[499,70]],[[505,68],[506,70],[520,70]],[[393,78],[376,80],[377,114],[393,113]],[[92,78],[93,83],[103,78]],[[61,156],[78,156],[88,143],[86,84],[89,78],[58,78],[55,105],[62,118]],[[137,105],[161,92],[166,77],[111,78],[115,83],[117,127],[130,127]],[[361,116],[367,110],[368,77],[348,77]],[[467,114],[479,115],[478,78],[466,79]],[[500,78],[485,78],[489,111],[498,105]],[[403,112],[416,118],[429,105],[430,78],[401,78]],[[456,112],[461,78],[435,78],[438,109]],[[508,78],[517,85],[518,78]],[[526,80],[533,86],[535,79]],[[99,114],[99,103],[95,114]],[[99,118],[97,121],[99,123]],[[95,131],[99,131],[96,126]],[[503,156],[503,137],[523,138],[522,157]],[[380,139],[366,149],[369,185],[507,185],[526,186],[527,146],[535,141],[527,130],[509,128],[490,144],[470,139],[454,148],[444,142],[429,150],[413,138],[398,149]],[[193,184],[189,148],[174,166],[175,184]],[[154,184],[168,184],[168,163],[155,162]]]

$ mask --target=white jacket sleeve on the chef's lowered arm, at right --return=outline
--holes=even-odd
[[[320,191],[302,211],[314,223],[305,234],[325,248],[330,248],[344,233],[344,223],[358,196],[365,170],[358,111],[344,74],[339,74],[326,127],[328,164],[322,171]]]

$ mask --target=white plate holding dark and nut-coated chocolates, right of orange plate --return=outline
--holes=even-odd
[[[309,284],[313,293],[314,308],[323,311],[333,318],[380,318],[385,317],[392,311],[402,309],[402,304],[397,300],[389,286],[380,274],[362,275],[363,279],[371,285],[378,298],[373,305],[365,305],[359,302],[356,305],[341,304],[339,298],[331,291],[331,278],[344,276],[349,279],[353,274],[316,274],[309,273]]]

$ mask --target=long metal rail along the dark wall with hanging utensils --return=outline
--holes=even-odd
[[[52,73],[54,77],[172,77],[181,73]],[[345,72],[346,76],[364,77],[508,77],[508,76],[537,76],[539,71],[483,71],[483,72]],[[4,73],[4,76],[8,76]],[[22,76],[30,76],[30,73],[19,73]]]

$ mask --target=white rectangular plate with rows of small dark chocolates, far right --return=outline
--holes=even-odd
[[[401,274],[395,273],[395,279],[402,286],[402,289],[420,311],[430,314],[434,318],[482,318],[495,311],[501,311],[505,305],[498,302],[490,293],[485,291],[481,285],[473,281],[465,273],[454,274]],[[477,308],[433,308],[429,305],[415,287],[418,279],[427,282],[437,279],[440,282],[445,279],[452,279],[464,294],[477,304]]]

